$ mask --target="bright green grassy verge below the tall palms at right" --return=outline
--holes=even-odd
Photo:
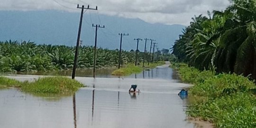
[[[189,89],[187,114],[213,122],[217,128],[256,128],[256,85],[247,77],[199,71],[172,64]]]

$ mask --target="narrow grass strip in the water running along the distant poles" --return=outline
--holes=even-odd
[[[149,65],[146,64],[145,67],[142,67],[142,65],[135,66],[134,64],[128,64],[123,68],[113,71],[111,74],[116,76],[126,76],[132,73],[140,73],[144,69],[149,69],[149,68],[152,69],[152,68],[155,68],[156,66],[163,65],[163,64],[165,64],[165,62],[163,61],[149,64]]]

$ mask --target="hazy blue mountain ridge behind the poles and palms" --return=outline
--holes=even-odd
[[[79,18],[80,13],[56,10],[0,11],[0,41],[30,40],[37,44],[75,46]],[[105,25],[105,28],[98,30],[97,41],[97,46],[103,48],[119,48],[118,33],[129,33],[129,36],[123,37],[122,48],[125,50],[136,49],[134,38],[156,39],[159,50],[170,48],[185,27],[150,24],[140,19],[98,15],[87,11],[82,23],[82,45],[94,45],[95,27],[91,27],[92,23]],[[140,51],[144,50],[144,42],[140,42]],[[149,49],[149,45],[147,48]]]

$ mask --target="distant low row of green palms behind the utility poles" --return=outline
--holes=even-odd
[[[80,46],[77,67],[93,67],[93,46]],[[36,45],[34,42],[5,41],[0,42],[0,72],[37,72],[58,71],[73,68],[75,47]],[[135,51],[122,51],[121,64],[135,62]],[[151,54],[152,55],[152,54]],[[155,61],[161,54],[155,52]],[[143,61],[144,53],[138,52],[138,62]],[[146,54],[146,62],[152,56]],[[96,67],[115,67],[119,64],[119,49],[97,48]]]

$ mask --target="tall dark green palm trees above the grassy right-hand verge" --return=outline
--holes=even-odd
[[[175,41],[173,54],[200,70],[214,68],[256,79],[256,0],[229,1],[231,5],[213,11],[212,18],[192,18]]]

